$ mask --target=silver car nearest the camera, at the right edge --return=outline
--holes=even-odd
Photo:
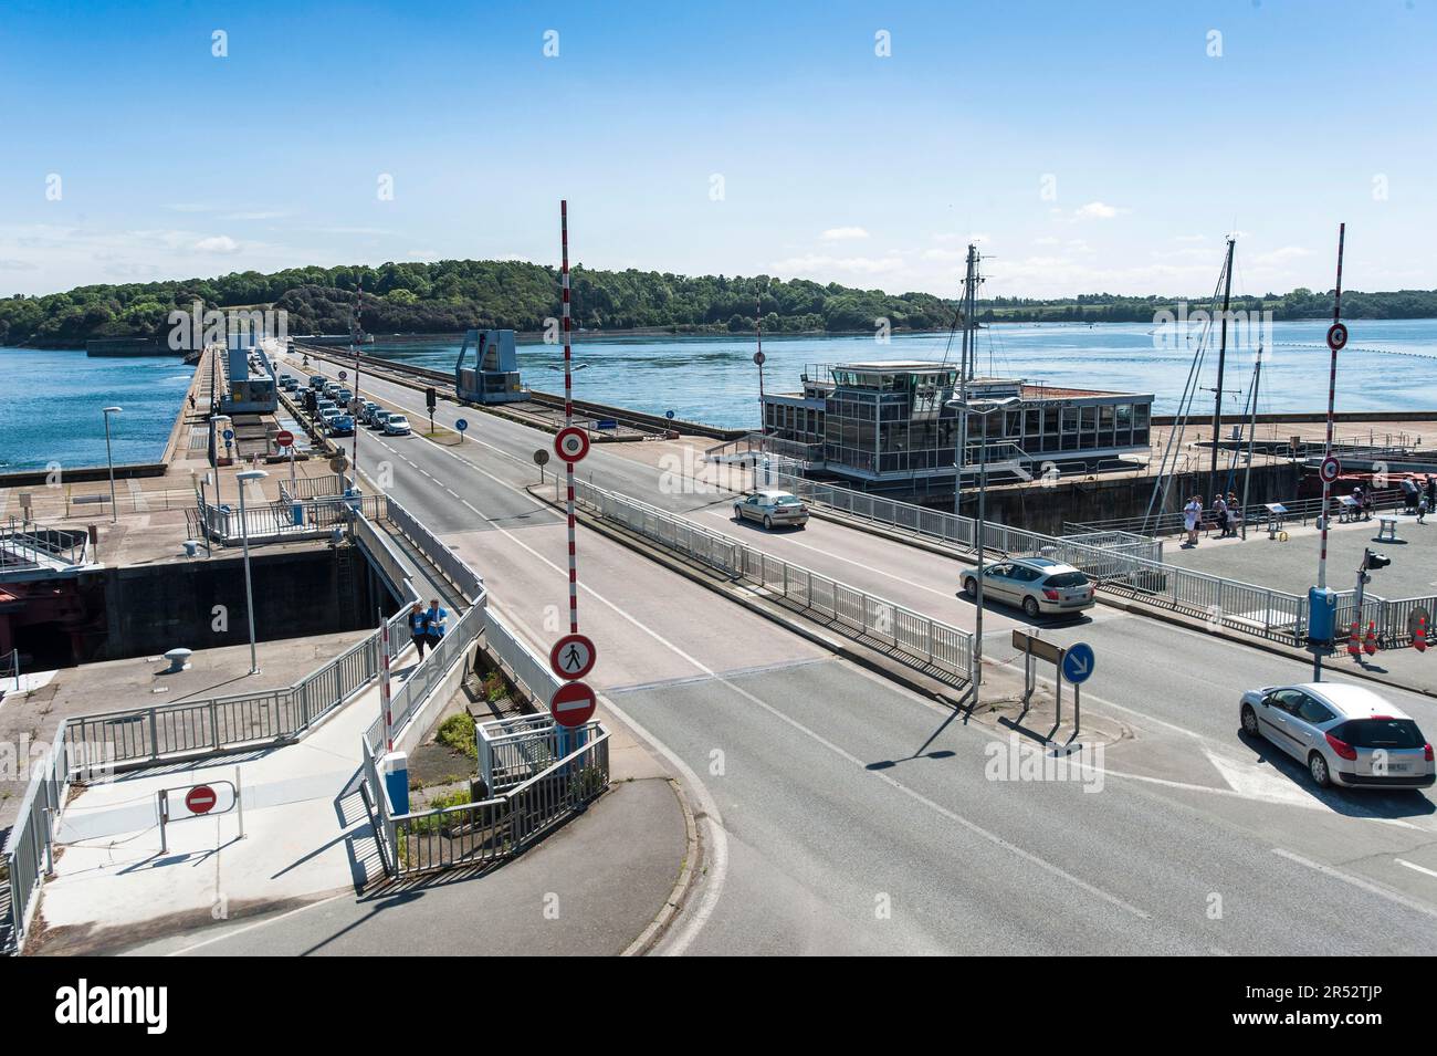
[[[1426,789],[1433,746],[1401,708],[1368,688],[1302,682],[1249,690],[1243,733],[1265,737],[1302,761],[1321,787]]]

